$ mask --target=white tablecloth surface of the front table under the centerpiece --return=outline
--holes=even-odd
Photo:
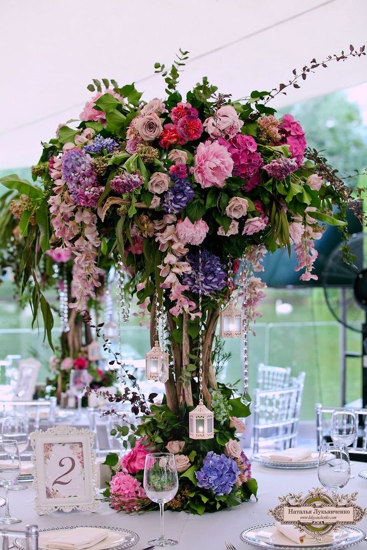
[[[365,463],[354,462],[352,472],[355,478],[351,479],[343,493],[358,491],[357,503],[361,507],[367,507],[367,480],[358,477],[358,472],[363,470]],[[253,476],[259,482],[259,500],[253,498],[249,502],[232,508],[222,510],[214,514],[202,516],[191,515],[185,512],[165,511],[165,531],[168,537],[178,540],[177,550],[223,550],[224,541],[231,541],[237,550],[251,548],[244,544],[239,534],[246,527],[265,524],[272,521],[267,515],[269,508],[278,504],[278,496],[288,492],[306,493],[312,487],[320,486],[317,479],[317,469],[309,470],[275,470],[259,464],[253,464]],[[143,515],[127,515],[109,508],[102,502],[95,513],[74,510],[69,513],[57,511],[48,515],[37,515],[34,510],[34,490],[10,491],[10,512],[23,519],[14,526],[15,529],[25,527],[26,524],[39,525],[40,529],[62,526],[110,526],[125,527],[135,531],[140,536],[140,541],[134,547],[141,550],[147,546],[147,541],[159,535],[160,519],[158,511],[147,512]],[[2,509],[3,510],[3,509]],[[0,514],[2,514],[0,509]],[[357,524],[360,529],[367,532],[367,518]],[[10,527],[11,529],[12,527]],[[360,550],[367,550],[367,541],[358,545]]]

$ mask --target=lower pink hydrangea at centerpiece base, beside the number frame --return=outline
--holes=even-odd
[[[115,510],[138,511],[146,501],[140,481],[127,474],[116,472],[110,482],[111,504]]]

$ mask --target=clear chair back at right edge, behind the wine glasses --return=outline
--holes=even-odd
[[[350,449],[355,454],[367,454],[367,409],[354,407],[327,407],[321,403],[315,405],[316,410],[316,442],[317,449],[320,449],[327,436],[330,436],[331,418],[334,411],[350,411],[354,413],[357,437]],[[361,428],[361,430],[359,429]],[[362,438],[358,437],[361,431]],[[359,445],[361,443],[361,445]]]

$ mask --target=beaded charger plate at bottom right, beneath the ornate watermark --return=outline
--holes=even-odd
[[[240,534],[240,539],[245,542],[246,544],[251,544],[251,546],[256,546],[258,548],[268,548],[271,550],[284,550],[284,548],[287,548],[287,550],[299,550],[299,548],[308,548],[309,550],[312,550],[315,548],[316,550],[322,550],[322,548],[325,549],[331,549],[332,550],[339,550],[340,548],[348,548],[349,546],[354,546],[355,544],[359,544],[360,542],[365,540],[365,533],[358,529],[358,527],[343,527],[343,531],[346,531],[346,535],[341,535],[341,538],[337,541],[333,542],[315,542],[315,543],[299,543],[289,541],[289,544],[287,544],[287,537],[284,537],[281,533],[279,533],[279,538],[274,537],[273,540],[276,542],[265,542],[261,540],[257,535],[259,531],[262,531],[263,529],[266,530],[272,530],[275,529],[275,524],[273,523],[267,523],[264,525],[256,525],[255,527],[250,527],[250,529],[245,529]],[[329,539],[330,540],[330,539]]]

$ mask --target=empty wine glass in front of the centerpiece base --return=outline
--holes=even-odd
[[[165,503],[177,493],[178,477],[176,460],[171,453],[151,453],[145,457],[144,489],[153,502],[157,502],[161,514],[161,535],[149,541],[154,546],[174,546],[177,541],[164,534],[163,511]]]

